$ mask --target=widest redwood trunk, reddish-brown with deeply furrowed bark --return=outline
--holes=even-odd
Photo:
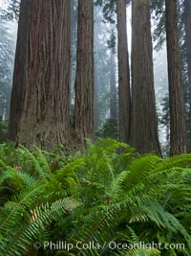
[[[70,1],[32,0],[30,5],[25,2],[31,10],[29,23],[20,26],[27,26],[28,34],[24,31],[25,53],[15,58],[21,68],[16,69],[13,83],[13,90],[17,90],[18,82],[26,88],[17,137],[19,143],[28,147],[34,143],[52,149],[69,139]],[[21,12],[20,20],[24,22],[22,15],[26,13]],[[22,52],[21,41],[19,37]],[[21,103],[14,97],[11,109],[17,104]]]

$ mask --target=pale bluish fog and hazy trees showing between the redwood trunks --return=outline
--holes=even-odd
[[[9,1],[8,1],[9,2]],[[7,5],[5,1],[0,1],[1,9],[6,10]],[[132,13],[131,5],[127,7],[127,37],[128,37],[128,48],[129,48],[129,61],[131,64],[131,33],[132,33]],[[7,19],[10,19],[9,17]],[[98,131],[103,127],[104,123],[110,116],[110,83],[111,83],[111,64],[114,65],[116,89],[118,88],[118,71],[117,71],[117,16],[113,14],[114,24],[111,24],[108,20],[104,19],[102,8],[99,6],[95,7],[95,36],[94,36],[94,56],[95,56],[95,128]],[[17,20],[11,18],[11,20],[1,19],[3,26],[7,30],[7,37],[10,39],[10,60],[7,77],[7,87],[9,91],[2,100],[6,103],[4,112],[1,115],[4,119],[9,118],[9,105],[11,97],[11,79],[13,72],[13,60],[16,45],[17,35]],[[151,19],[152,32],[156,29],[153,19]],[[72,15],[72,74],[71,74],[71,100],[72,110],[74,109],[74,81],[75,81],[75,69],[76,69],[76,41],[77,41],[77,5],[74,4],[74,11]],[[1,36],[1,45],[3,45],[5,38]],[[155,50],[157,42],[153,41],[153,60],[154,60],[154,76],[155,76],[155,94],[157,102],[157,110],[159,118],[162,118],[162,105],[165,95],[168,93],[168,75],[167,75],[167,57],[166,57],[166,45],[162,43],[158,50]],[[114,50],[114,58],[111,58],[111,52]],[[1,52],[3,55],[3,52]],[[114,61],[112,63],[111,61]],[[1,78],[2,79],[2,78]],[[164,124],[159,122],[159,139],[160,143],[164,145],[166,141],[166,132],[168,128]]]

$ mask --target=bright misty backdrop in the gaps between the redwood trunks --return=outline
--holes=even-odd
[[[9,2],[9,1],[8,1]],[[8,6],[8,2],[0,0],[0,12],[5,10]],[[77,12],[77,7],[76,7]],[[72,33],[72,103],[74,103],[74,78],[75,78],[75,61],[76,61],[76,26],[77,26],[77,13],[74,14],[74,28]],[[116,19],[116,16],[114,16]],[[14,55],[17,39],[17,20],[5,20],[0,18],[1,22],[1,35],[0,35],[0,69],[5,70],[5,58],[7,62],[6,73],[1,72],[0,82],[6,83],[6,92],[0,92],[0,116],[3,120],[9,119],[9,105],[11,100],[11,83],[13,75]],[[153,20],[152,31],[154,31],[155,25]],[[98,6],[95,7],[95,61],[98,61],[98,67],[95,77],[96,93],[99,99],[96,102],[96,109],[99,111],[99,117],[96,122],[96,129],[103,126],[104,122],[109,118],[109,90],[110,90],[110,52],[109,41],[111,36],[114,35],[117,38],[116,24],[109,24],[103,18],[102,9]],[[128,36],[128,48],[131,63],[131,5],[127,8],[127,36]],[[5,47],[5,43],[7,46]],[[115,50],[115,67],[116,67],[116,84],[117,84],[117,40],[113,47]],[[167,76],[167,57],[165,43],[159,49],[155,50],[156,43],[153,43],[153,59],[154,59],[154,77],[155,77],[155,91],[157,100],[157,110],[159,117],[162,115],[162,106],[164,96],[167,94],[168,76]],[[7,51],[7,53],[5,53]],[[167,128],[159,123],[159,140],[165,147],[167,144],[166,139]]]

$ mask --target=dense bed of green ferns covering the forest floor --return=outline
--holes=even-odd
[[[191,255],[190,183],[191,154],[112,139],[69,156],[1,144],[0,255]]]

